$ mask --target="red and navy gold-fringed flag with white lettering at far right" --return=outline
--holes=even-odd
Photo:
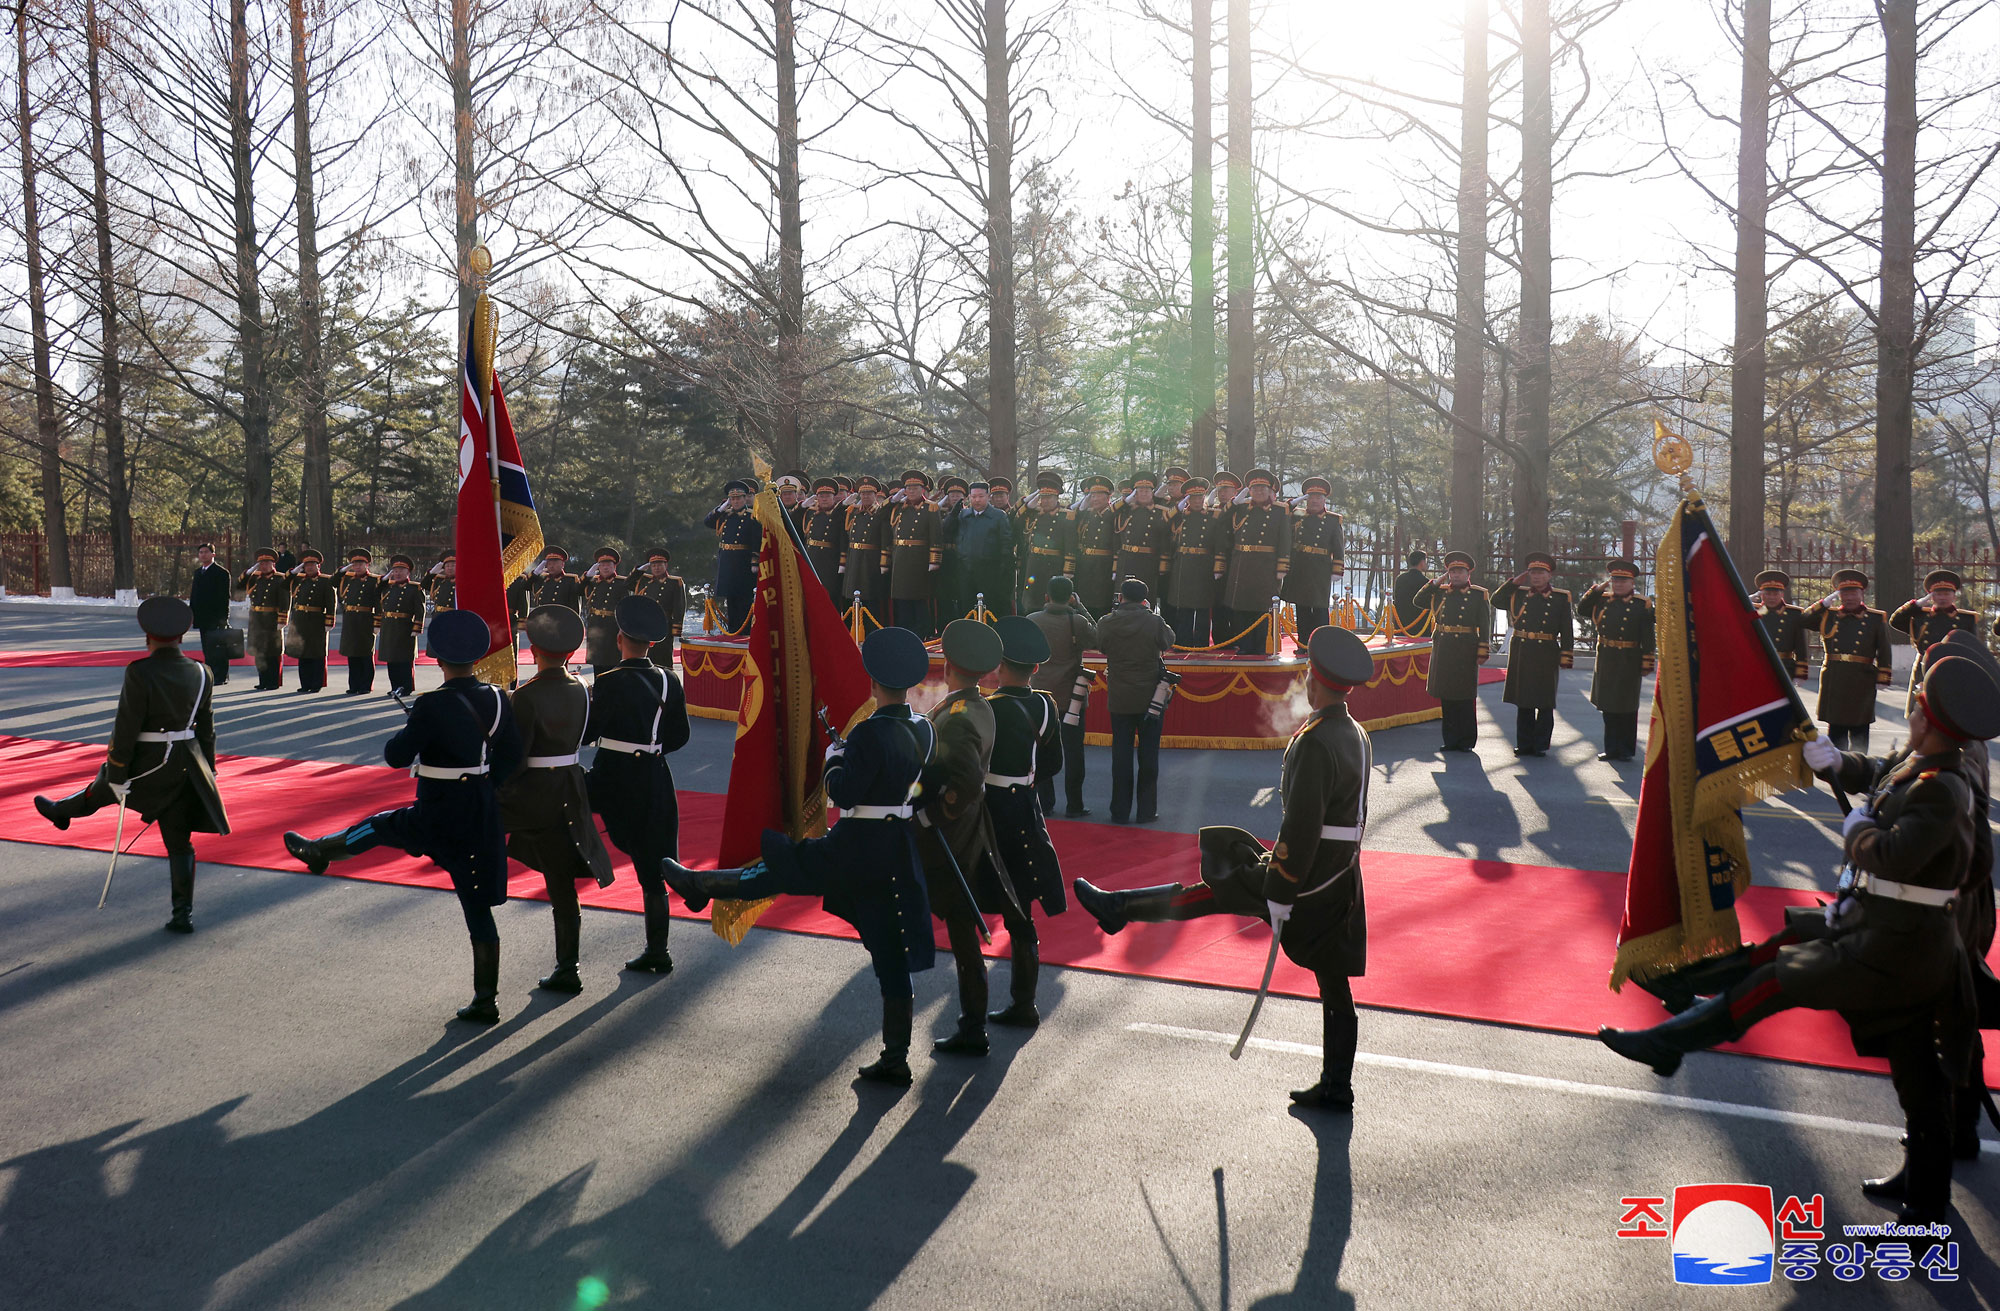
[[[1812,785],[1812,717],[1700,496],[1660,540],[1654,592],[1660,665],[1612,991],[1742,945],[1738,807]]]

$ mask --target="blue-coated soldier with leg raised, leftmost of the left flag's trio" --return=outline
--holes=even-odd
[[[492,907],[506,901],[506,833],[494,787],[520,763],[506,693],[472,671],[490,644],[486,620],[470,610],[450,610],[430,624],[430,654],[444,685],[416,697],[402,731],[382,745],[390,767],[416,775],[412,805],[326,837],[284,835],[284,849],[312,873],[372,847],[428,855],[450,873],[472,939],[472,1001],[458,1007],[458,1017],[482,1025],[500,1023],[500,929]]]

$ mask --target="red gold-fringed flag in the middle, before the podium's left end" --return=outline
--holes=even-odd
[[[860,648],[814,576],[798,526],[770,488],[770,468],[760,462],[756,472],[762,490],[752,514],[764,528],[764,544],[742,661],[730,791],[722,803],[720,867],[758,859],[764,829],[790,837],[822,835],[826,783],[820,769],[828,725],[844,737],[874,713]],[[718,937],[738,943],[768,905],[770,897],[716,901],[710,925]]]

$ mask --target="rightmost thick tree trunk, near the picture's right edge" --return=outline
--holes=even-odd
[[[1876,314],[1876,604],[1914,596],[1916,0],[1882,0],[1882,306]]]

